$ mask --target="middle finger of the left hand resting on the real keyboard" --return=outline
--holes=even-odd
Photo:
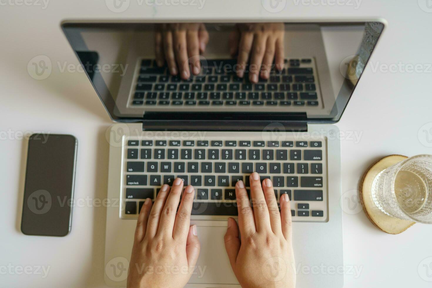
[[[174,228],[175,215],[177,213],[178,203],[180,202],[181,190],[183,188],[183,180],[175,178],[172,187],[169,191],[165,206],[159,220],[158,234],[169,235],[172,237]],[[160,193],[160,192],[159,192]]]

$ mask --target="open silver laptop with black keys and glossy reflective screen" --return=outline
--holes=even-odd
[[[171,22],[65,21],[62,28],[113,125],[105,282],[125,287],[137,215],[146,198],[181,177],[195,187],[191,225],[201,243],[187,287],[240,287],[226,255],[235,183],[273,181],[291,199],[299,287],[343,287],[337,122],[384,28],[378,20],[280,22],[284,67],[239,78],[229,53],[238,22],[201,21],[209,35],[197,75],[155,61],[155,32]],[[362,83],[360,82],[360,85]],[[364,85],[364,83],[363,83]],[[346,272],[347,270],[345,270]]]

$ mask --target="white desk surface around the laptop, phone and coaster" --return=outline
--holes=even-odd
[[[289,0],[280,13],[267,12],[259,0],[207,0],[203,9],[196,6],[153,9],[145,4],[137,6],[140,2],[131,0],[129,9],[123,13],[111,12],[103,0],[49,1],[46,9],[42,9],[44,4],[39,0],[26,1],[35,4],[32,6],[18,6],[23,3],[20,0],[0,2],[1,287],[105,287],[105,208],[75,207],[72,231],[67,237],[29,237],[19,230],[26,150],[26,143],[20,136],[22,132],[75,135],[79,141],[75,198],[103,199],[106,196],[108,143],[105,131],[111,120],[86,76],[60,73],[57,64],[53,65],[51,76],[44,80],[35,80],[27,72],[27,63],[37,55],[47,55],[53,63],[60,61],[62,65],[64,61],[77,63],[60,30],[63,19],[236,19],[239,15],[245,19],[382,17],[389,25],[372,56],[374,65],[421,64],[426,72],[374,72],[371,66],[365,70],[337,123],[341,131],[361,133],[359,142],[342,140],[344,195],[355,194],[352,190],[358,189],[362,173],[382,156],[432,154],[432,148],[427,146],[432,146],[432,130],[429,130],[432,126],[429,67],[432,63],[432,13],[426,12],[426,8],[420,9],[417,1],[363,0],[359,8],[354,9],[348,5],[302,5],[310,2]],[[326,0],[313,3],[323,2],[330,3]],[[42,6],[36,6],[38,3]],[[419,3],[425,6],[426,0],[419,0]],[[248,7],[247,14],[244,7]],[[419,134],[427,123],[427,129],[423,127]],[[347,199],[352,198],[344,197],[345,202]],[[355,203],[351,201],[350,204]],[[375,228],[362,211],[355,208],[346,211],[358,213],[343,215],[345,264],[362,270],[357,278],[346,275],[345,287],[431,286],[425,279],[432,275],[432,264],[429,270],[423,264],[432,262],[432,258],[426,259],[432,256],[432,226],[416,224],[402,234],[389,235]],[[42,278],[43,272],[42,275],[19,275],[20,268],[10,272],[5,270],[7,266],[30,266],[26,269],[34,272],[37,266],[49,266],[50,270],[48,276]]]

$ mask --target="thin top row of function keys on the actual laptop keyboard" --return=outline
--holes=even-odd
[[[216,141],[209,141],[209,140],[142,140],[141,146],[153,146],[153,142],[155,146],[182,146],[181,143],[183,143],[183,146],[215,146],[215,147],[265,147],[267,144],[267,147],[294,147],[294,141],[233,141],[233,140],[216,140]],[[224,145],[225,143],[225,145]],[[321,141],[295,141],[295,147],[308,147],[308,144],[310,143],[310,147],[322,147]],[[140,141],[139,140],[129,140],[127,141],[127,146],[139,146]]]

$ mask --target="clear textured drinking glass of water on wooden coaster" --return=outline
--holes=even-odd
[[[372,199],[385,214],[432,223],[432,155],[417,155],[381,171],[372,182]]]

